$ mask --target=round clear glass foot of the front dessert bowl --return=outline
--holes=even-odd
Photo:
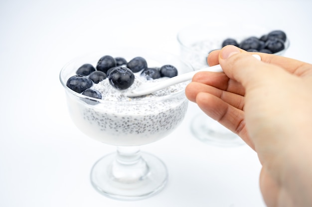
[[[117,153],[99,159],[91,170],[93,187],[106,197],[122,201],[142,200],[159,193],[167,183],[167,168],[156,156],[146,152],[140,154],[146,170],[141,169],[142,163],[137,169],[126,169],[129,167],[125,166],[124,175],[112,173]]]

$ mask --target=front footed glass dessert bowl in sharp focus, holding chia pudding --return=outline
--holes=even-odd
[[[111,87],[109,91],[101,91],[104,93],[102,99],[82,95],[67,86],[67,80],[81,65],[88,63],[95,66],[103,55],[126,60],[142,56],[149,67],[171,64],[178,74],[192,69],[170,54],[119,49],[77,58],[60,72],[69,114],[77,128],[90,138],[117,146],[117,152],[105,155],[94,164],[92,185],[98,192],[113,199],[144,199],[163,189],[168,173],[165,164],[156,156],[141,152],[140,145],[166,137],[182,122],[188,105],[184,95],[187,83],[155,94],[128,98],[123,91],[113,88],[106,78],[92,86],[99,91]]]

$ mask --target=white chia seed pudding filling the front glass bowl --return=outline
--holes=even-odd
[[[183,120],[188,101],[184,95],[187,82],[169,86],[152,94],[129,98],[143,80],[135,73],[130,88],[112,87],[108,78],[91,88],[101,92],[102,100],[67,91],[70,115],[75,125],[87,136],[112,145],[130,146],[154,142],[171,133]],[[70,91],[70,90],[69,90]]]

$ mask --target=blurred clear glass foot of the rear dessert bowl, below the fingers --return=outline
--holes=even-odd
[[[196,138],[211,145],[229,147],[246,144],[238,135],[204,113],[193,118],[190,128]]]

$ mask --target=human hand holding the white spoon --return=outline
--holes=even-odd
[[[312,206],[312,65],[257,54],[211,52],[208,64],[224,73],[197,73],[186,96],[258,153],[269,207]]]

